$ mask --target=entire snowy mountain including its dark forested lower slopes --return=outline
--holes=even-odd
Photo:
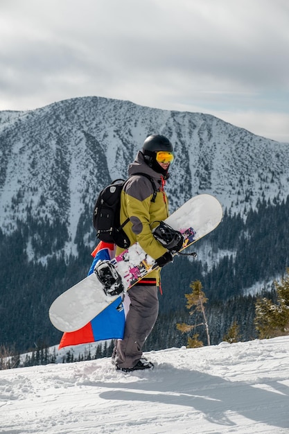
[[[153,133],[168,136],[175,148],[166,188],[170,211],[198,193],[212,193],[231,211],[197,243],[196,260],[177,258],[162,272],[159,333],[166,333],[159,340],[153,331],[153,348],[179,342],[175,322],[185,315],[184,294],[193,279],[202,280],[212,305],[211,342],[220,342],[234,319],[245,338],[255,336],[253,302],[238,300],[236,309],[228,304],[220,311],[213,303],[264,284],[270,289],[289,266],[289,199],[283,201],[289,143],[207,114],[86,97],[0,112],[0,345],[25,351],[38,340],[59,342],[49,306],[87,274],[97,242],[91,222],[96,196],[126,177]]]

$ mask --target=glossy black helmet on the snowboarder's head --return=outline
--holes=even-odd
[[[156,153],[158,150],[164,150],[168,153],[173,153],[173,145],[170,141],[161,134],[153,134],[148,136],[143,142],[143,157],[154,171],[164,175],[165,179],[168,179],[168,168],[162,168],[156,160]]]

